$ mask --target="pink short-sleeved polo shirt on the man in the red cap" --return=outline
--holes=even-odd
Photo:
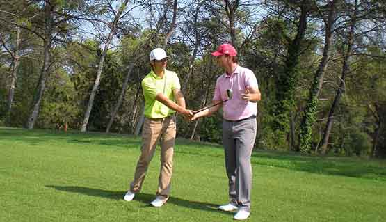
[[[232,89],[232,100],[228,100],[223,104],[223,118],[225,120],[242,120],[252,115],[257,114],[257,103],[245,101],[241,98],[241,93],[244,93],[246,86],[258,88],[255,74],[243,68],[240,65],[230,75],[226,72],[218,77],[216,88],[214,89],[213,100],[227,100],[227,89]]]

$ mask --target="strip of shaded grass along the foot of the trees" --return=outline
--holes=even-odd
[[[58,132],[46,129],[1,128],[1,141],[21,141],[29,145],[69,143],[76,145],[106,145],[104,148],[140,148],[140,138],[129,135],[104,134],[96,132]],[[177,139],[175,154],[186,154],[198,157],[223,159],[221,145],[191,142]],[[251,158],[252,164],[287,168],[291,171],[305,171],[324,175],[340,175],[371,180],[386,181],[386,162],[355,159],[353,157],[314,157],[293,152],[260,152],[255,151]]]

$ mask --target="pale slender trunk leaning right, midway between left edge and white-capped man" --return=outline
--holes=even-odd
[[[91,90],[90,98],[88,100],[87,109],[86,109],[86,112],[84,113],[84,119],[83,119],[83,123],[81,126],[81,132],[86,132],[87,125],[88,125],[88,119],[90,118],[90,113],[91,113],[91,110],[93,109],[95,95],[97,94],[97,90],[98,90],[99,84],[100,84],[100,79],[102,76],[102,71],[103,71],[103,67],[104,67],[104,59],[106,58],[108,47],[110,47],[111,41],[113,40],[113,36],[114,36],[115,31],[117,29],[117,24],[118,24],[118,21],[120,20],[120,15],[122,15],[122,12],[126,8],[128,2],[129,2],[129,0],[125,0],[122,3],[120,9],[118,10],[118,13],[115,15],[113,23],[111,24],[111,30],[110,30],[110,33],[108,33],[108,37],[107,37],[107,40],[105,42],[104,49],[102,51],[102,56],[99,60],[99,65],[98,65],[98,70],[97,70],[97,78],[95,79],[93,90]]]

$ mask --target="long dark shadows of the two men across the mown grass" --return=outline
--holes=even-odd
[[[106,191],[103,189],[94,189],[90,187],[79,187],[79,186],[54,186],[54,185],[46,185],[45,187],[54,188],[58,191],[65,191],[71,193],[81,193],[88,196],[95,196],[99,198],[108,198],[112,200],[123,200],[124,193],[122,191]],[[133,201],[139,201],[140,203],[145,203],[150,207],[150,202],[154,200],[155,194],[149,193],[137,193],[136,197]],[[233,212],[223,212],[218,210],[218,205],[213,203],[204,203],[192,200],[185,200],[182,198],[177,198],[170,196],[168,200],[169,204],[177,205],[180,207],[186,207],[190,209],[198,209],[209,212],[220,212],[223,214],[233,214]]]

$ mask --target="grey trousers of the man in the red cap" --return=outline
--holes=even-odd
[[[229,196],[239,209],[250,211],[252,166],[250,156],[256,138],[256,119],[231,122],[223,120],[225,168],[229,179]]]

